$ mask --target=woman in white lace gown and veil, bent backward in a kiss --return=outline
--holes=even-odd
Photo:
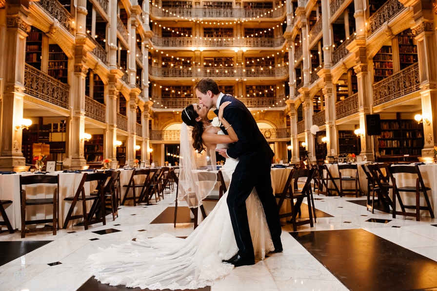
[[[211,149],[223,148],[236,142],[238,137],[231,125],[223,118],[219,108],[219,121],[227,129],[225,135],[220,127],[207,118],[208,109],[191,104],[182,111],[180,131],[179,190],[181,199],[190,207],[197,207],[208,193],[200,193],[196,186],[194,150],[202,152],[205,146]],[[192,130],[192,145],[190,134]],[[223,167],[228,177],[232,176],[238,160],[226,159]],[[194,179],[194,180],[193,180]],[[253,190],[255,191],[255,189]],[[188,196],[197,197],[197,203]],[[237,254],[238,248],[226,204],[227,193],[219,200],[212,212],[185,239],[162,234],[154,238],[139,236],[127,244],[99,249],[89,256],[91,273],[101,283],[112,286],[126,285],[150,290],[199,289],[213,285],[215,280],[229,274],[234,265],[222,263]],[[274,245],[265,220],[258,195],[254,192],[246,200],[250,233],[257,259],[264,259],[266,253],[274,251]]]

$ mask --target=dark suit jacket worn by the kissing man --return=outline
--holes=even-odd
[[[259,131],[249,109],[238,99],[230,95],[221,98],[223,102],[231,101],[223,111],[223,117],[232,125],[238,136],[238,142],[226,151],[231,158],[238,158],[239,166],[247,168],[257,168],[260,164],[271,163],[274,156],[270,145]]]

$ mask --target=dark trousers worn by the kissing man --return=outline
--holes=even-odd
[[[280,243],[281,225],[278,204],[273,195],[270,166],[271,164],[269,163],[261,166],[261,168],[243,169],[243,171],[239,171],[237,166],[229,185],[226,201],[237,241],[238,255],[243,258],[253,258],[255,255],[246,209],[246,199],[254,187],[264,209],[272,240],[274,243]]]

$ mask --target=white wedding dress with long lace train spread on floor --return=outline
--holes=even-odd
[[[223,169],[228,177],[237,164],[238,160],[226,159]],[[150,290],[199,289],[212,285],[234,268],[222,260],[238,252],[226,197],[227,193],[185,239],[168,234],[153,238],[139,236],[136,241],[99,249],[99,253],[89,256],[91,273],[101,283]],[[255,256],[264,259],[275,248],[255,189],[246,205]]]

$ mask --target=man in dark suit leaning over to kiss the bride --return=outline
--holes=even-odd
[[[194,90],[199,98],[199,103],[208,109],[213,106],[219,108],[220,104],[225,101],[232,102],[224,109],[223,117],[234,128],[238,142],[228,149],[216,149],[216,151],[225,158],[239,159],[232,175],[226,200],[237,240],[238,253],[223,262],[233,264],[236,267],[253,265],[255,264],[255,254],[247,218],[246,199],[254,187],[264,209],[275,252],[282,252],[278,205],[273,195],[270,177],[274,153],[259,131],[257,122],[249,109],[241,101],[220,93],[219,86],[210,78],[200,80],[194,86]]]

